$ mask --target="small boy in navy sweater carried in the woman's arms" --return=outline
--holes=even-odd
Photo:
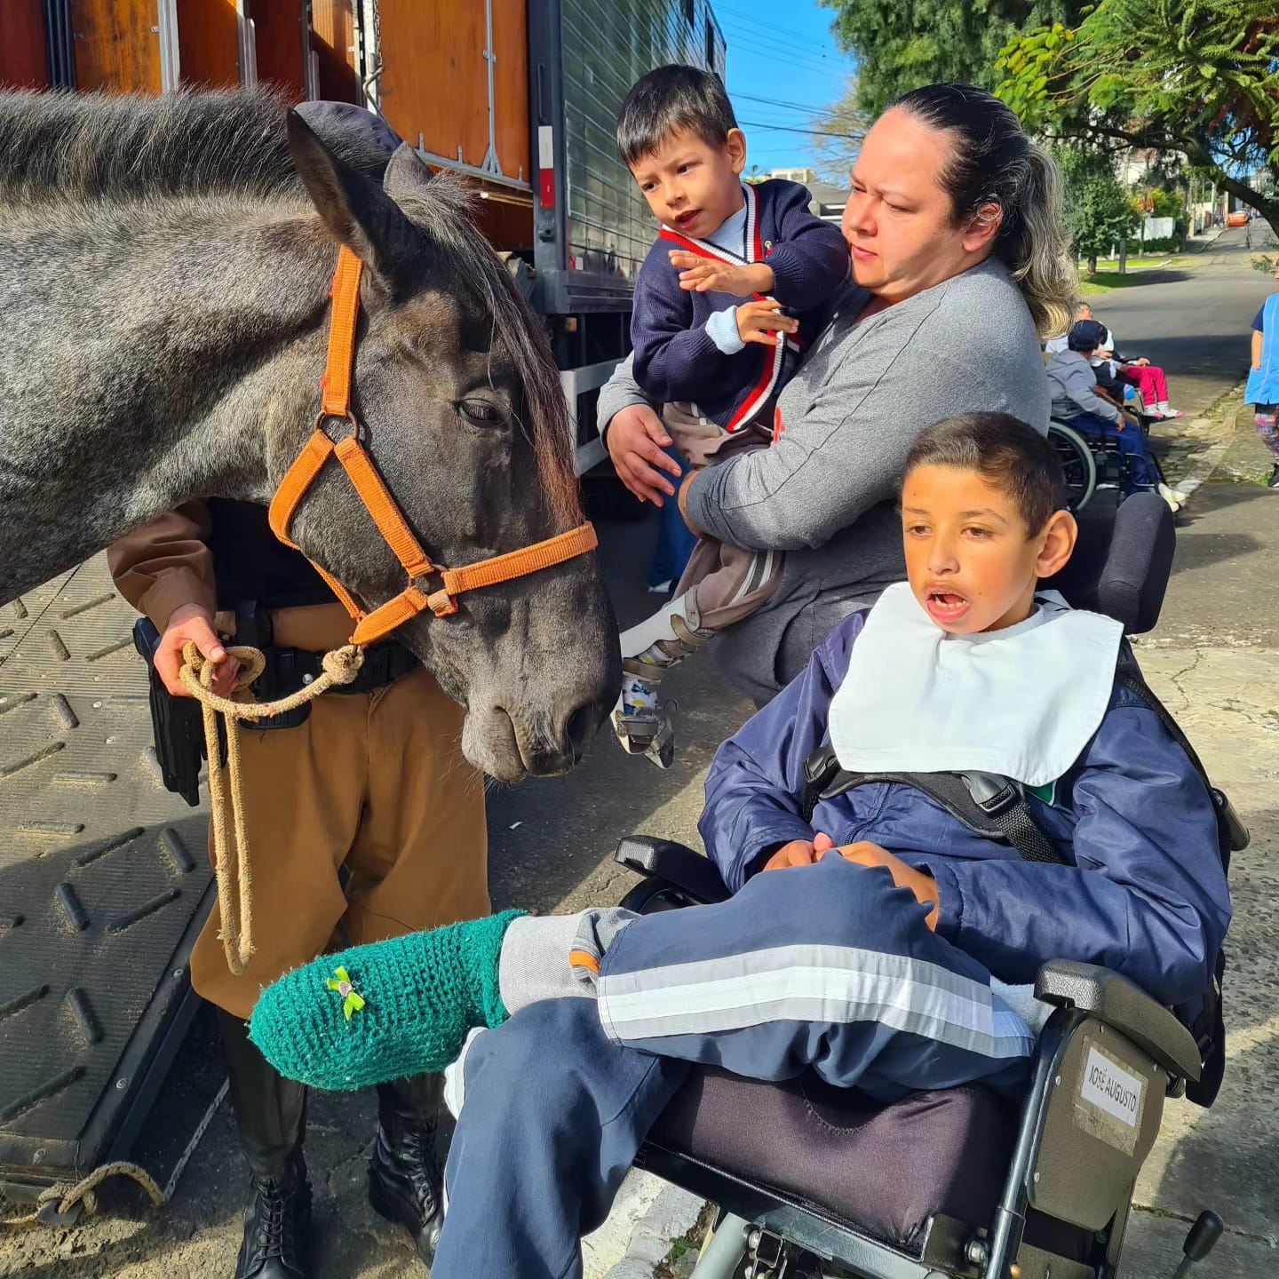
[[[778,393],[820,329],[816,308],[848,276],[843,234],[808,212],[804,187],[741,180],[746,138],[711,72],[659,67],[645,75],[622,105],[618,146],[661,223],[636,279],[636,381],[664,405],[689,466],[764,448]],[[697,547],[670,604],[622,636],[614,728],[627,751],[669,767],[663,674],[758,609],[780,574],[780,554]]]

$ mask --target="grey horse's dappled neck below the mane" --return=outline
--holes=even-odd
[[[193,498],[266,500],[272,440],[316,411],[335,251],[315,216],[171,201],[105,221],[0,231],[24,335],[0,354],[0,600]]]

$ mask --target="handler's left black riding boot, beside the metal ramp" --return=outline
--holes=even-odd
[[[267,1065],[240,1018],[219,1009],[217,1021],[226,1048],[228,1091],[253,1191],[244,1209],[235,1279],[308,1279],[311,1184],[302,1157],[306,1086]]]

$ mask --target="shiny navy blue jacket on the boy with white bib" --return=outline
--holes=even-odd
[[[761,853],[825,831],[927,868],[938,935],[1010,985],[1049,959],[1123,973],[1164,1004],[1195,1005],[1230,921],[1216,819],[1204,780],[1157,716],[1115,686],[1101,726],[1055,788],[1031,797],[1064,866],[1023,861],[909,787],[867,784],[799,816],[803,762],[828,741],[830,700],[866,614],[840,623],[808,669],[729,738],[706,779],[700,830],[737,891]]]

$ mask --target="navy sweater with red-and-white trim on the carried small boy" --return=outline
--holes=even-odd
[[[636,278],[631,343],[634,376],[661,403],[688,400],[728,431],[741,430],[787,384],[804,345],[821,327],[820,308],[848,279],[848,246],[839,228],[808,212],[812,198],[794,182],[744,183],[746,256],[697,240],[670,226],[648,251]],[[771,297],[799,320],[781,347],[747,343],[729,356],[706,331],[716,312],[746,298],[679,286],[669,253],[682,248],[724,262],[766,262]]]

